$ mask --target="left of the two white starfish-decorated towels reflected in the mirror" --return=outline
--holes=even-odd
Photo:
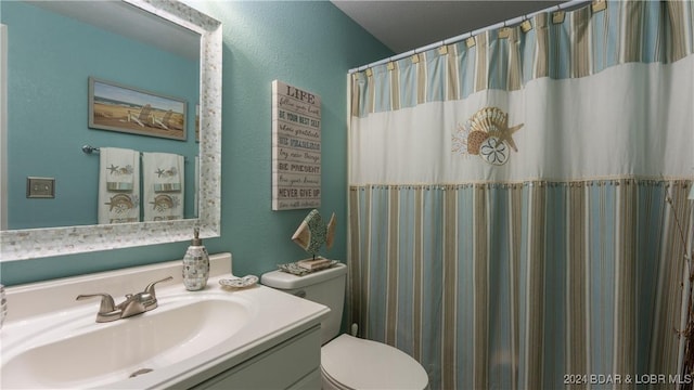
[[[140,153],[99,152],[99,223],[140,222]]]

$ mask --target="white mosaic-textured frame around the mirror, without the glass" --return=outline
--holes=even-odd
[[[0,261],[190,240],[194,227],[202,238],[220,235],[221,23],[177,1],[123,1],[201,35],[198,218],[0,231]]]

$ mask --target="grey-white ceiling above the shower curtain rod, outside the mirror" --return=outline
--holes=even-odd
[[[554,6],[553,0],[331,0],[396,54]]]

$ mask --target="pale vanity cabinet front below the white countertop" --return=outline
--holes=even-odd
[[[305,330],[193,389],[320,389],[320,325]]]

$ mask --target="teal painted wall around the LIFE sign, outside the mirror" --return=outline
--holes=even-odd
[[[327,1],[210,1],[196,8],[222,22],[221,237],[209,252],[233,253],[234,273],[261,274],[306,258],[291,236],[309,210],[271,210],[271,82],[322,99],[323,216],[337,236],[324,255],[347,252],[347,72],[393,55]],[[3,262],[13,285],[182,258],[189,243]]]

